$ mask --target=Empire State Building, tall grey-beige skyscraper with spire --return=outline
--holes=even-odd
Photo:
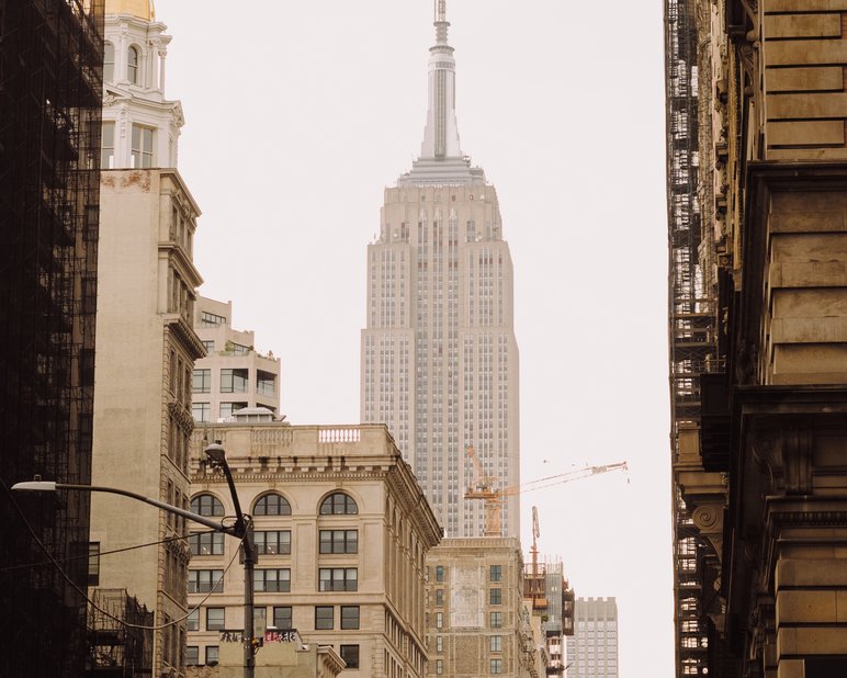
[[[463,499],[467,445],[495,486],[519,483],[518,346],[497,193],[459,145],[449,25],[439,0],[420,157],[385,190],[368,247],[361,416],[388,423],[447,534],[473,536],[484,511]],[[517,495],[501,524],[518,536]]]

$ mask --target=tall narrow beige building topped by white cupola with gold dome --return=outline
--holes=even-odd
[[[149,0],[106,1],[92,482],[188,507],[200,210],[174,168],[182,111],[165,99],[163,32]],[[155,612],[153,666],[140,668],[157,677],[183,675],[184,534],[184,519],[92,496],[94,552],[155,544],[103,555],[95,585]]]

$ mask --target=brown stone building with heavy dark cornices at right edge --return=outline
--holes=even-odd
[[[691,594],[703,663],[678,675],[847,675],[847,3],[698,5],[726,369],[703,381],[701,426],[677,431],[714,583]]]

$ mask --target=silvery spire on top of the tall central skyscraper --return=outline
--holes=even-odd
[[[436,44],[429,48],[429,111],[420,158],[461,158],[455,120],[455,59],[447,43],[447,0],[434,0]]]

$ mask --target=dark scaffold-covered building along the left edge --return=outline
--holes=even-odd
[[[80,676],[97,300],[102,0],[0,2],[2,676]]]

